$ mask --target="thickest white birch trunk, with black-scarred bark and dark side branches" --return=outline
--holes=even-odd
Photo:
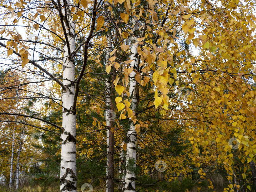
[[[66,9],[69,10],[70,2],[66,0]],[[64,8],[62,14],[65,15]],[[61,162],[60,162],[60,191],[76,192],[76,111],[72,111],[75,93],[75,64],[74,58],[69,55],[69,52],[75,50],[75,21],[72,15],[68,14],[67,19],[69,28],[66,30],[70,50],[68,50],[67,43],[64,46],[63,58],[63,85],[66,90],[62,94],[62,128],[61,134]]]

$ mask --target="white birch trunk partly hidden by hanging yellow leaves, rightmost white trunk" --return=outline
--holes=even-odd
[[[137,31],[137,20],[132,19],[132,23],[135,25],[133,28],[133,33]],[[136,55],[137,55],[137,44],[136,44],[136,37],[132,36],[131,37],[131,67],[133,69],[137,69],[137,60],[136,60]],[[129,87],[129,93],[130,93],[130,98],[131,98],[131,110],[135,112],[136,110],[136,80],[135,80],[135,75],[136,73],[134,71],[131,72],[129,81],[130,81],[130,87]],[[136,138],[137,133],[135,131],[135,124],[131,122],[130,124],[130,129],[128,130],[127,133],[127,152],[126,152],[126,165],[128,165],[128,160],[129,159],[134,159],[134,169],[136,167]],[[127,166],[126,166],[127,167]],[[125,192],[135,192],[135,173],[133,171],[126,170],[126,175],[125,175]]]

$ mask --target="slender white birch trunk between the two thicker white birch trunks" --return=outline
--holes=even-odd
[[[108,63],[108,59],[110,58],[110,52],[111,52],[111,31],[107,33],[107,54],[106,54],[106,63]],[[106,126],[110,126],[111,121],[111,99],[110,99],[110,93],[111,93],[111,83],[110,80],[107,78],[105,80],[105,86],[106,86]],[[109,130],[107,129],[107,168],[106,168],[106,192],[108,192],[108,151],[109,151]]]

